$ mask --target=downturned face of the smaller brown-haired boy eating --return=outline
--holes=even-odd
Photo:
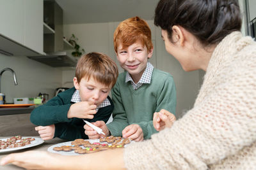
[[[111,86],[102,85],[94,80],[94,78],[82,78],[80,83],[74,78],[74,85],[79,90],[81,101],[92,101],[97,106],[108,97]]]

